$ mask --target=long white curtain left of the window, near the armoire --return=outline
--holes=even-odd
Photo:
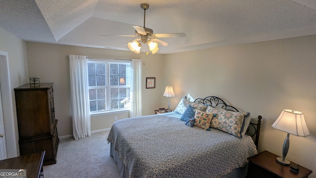
[[[73,134],[80,139],[91,135],[88,60],[80,55],[69,55],[69,59]]]

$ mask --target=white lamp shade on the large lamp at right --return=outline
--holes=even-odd
[[[272,127],[296,136],[306,137],[310,135],[305,123],[304,114],[291,109],[284,109]]]

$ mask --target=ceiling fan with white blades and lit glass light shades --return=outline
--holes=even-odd
[[[137,39],[127,44],[128,48],[137,54],[140,53],[140,48],[142,47],[142,44],[147,43],[150,51],[152,51],[153,54],[158,52],[159,50],[158,44],[162,46],[169,45],[168,43],[163,42],[159,40],[158,38],[186,37],[185,33],[154,34],[154,31],[152,29],[145,27],[146,10],[149,8],[149,4],[142,3],[140,4],[140,6],[144,10],[144,27],[132,25],[135,29],[135,35],[101,35],[101,36],[137,37]]]

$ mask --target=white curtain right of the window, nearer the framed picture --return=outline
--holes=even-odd
[[[129,117],[137,117],[142,116],[142,60],[132,59],[131,69],[133,82]]]

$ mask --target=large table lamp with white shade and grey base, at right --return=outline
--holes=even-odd
[[[304,115],[300,111],[284,109],[276,119],[275,123],[273,123],[272,127],[287,133],[283,143],[282,158],[277,157],[276,161],[283,165],[290,165],[290,161],[285,159],[290,145],[290,134],[303,137],[310,135],[305,123]]]

